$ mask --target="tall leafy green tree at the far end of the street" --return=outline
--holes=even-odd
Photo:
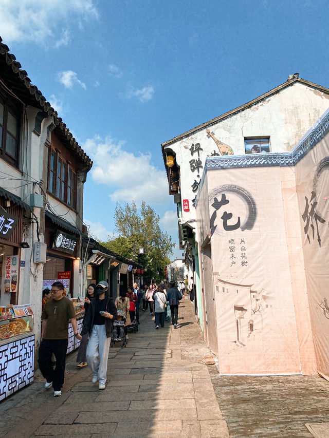
[[[160,281],[165,278],[165,268],[173,254],[171,237],[160,228],[160,218],[153,208],[142,201],[140,211],[135,202],[115,208],[117,238],[102,245],[126,258],[134,258],[143,265],[144,277]],[[144,254],[139,254],[144,248]]]

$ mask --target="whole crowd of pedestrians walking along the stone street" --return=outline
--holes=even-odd
[[[182,284],[184,284],[184,288]],[[92,371],[92,382],[99,383],[99,389],[105,389],[108,351],[113,341],[125,342],[128,339],[127,328],[139,325],[139,310],[149,310],[154,316],[155,329],[165,327],[165,321],[172,322],[177,328],[179,302],[185,296],[185,283],[153,282],[141,288],[137,283],[129,286],[127,292],[113,300],[108,293],[108,283],[100,281],[89,284],[84,301],[85,315],[81,333],[78,332],[77,319],[72,302],[63,294],[64,286],[56,281],[51,286],[51,296],[43,297],[42,339],[39,348],[39,367],[46,379],[45,388],[51,386],[54,396],[60,396],[64,384],[65,358],[68,345],[68,323],[72,324],[74,335],[80,340],[77,366],[88,366]],[[56,359],[53,367],[52,355]]]

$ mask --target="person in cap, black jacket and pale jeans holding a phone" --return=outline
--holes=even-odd
[[[96,295],[90,300],[81,335],[89,333],[87,363],[92,370],[92,382],[98,381],[98,389],[105,389],[108,350],[117,309],[113,299],[108,295],[106,281],[100,281],[97,284]]]

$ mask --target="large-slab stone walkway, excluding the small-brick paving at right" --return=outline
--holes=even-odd
[[[67,358],[62,396],[35,382],[0,404],[0,436],[228,437],[208,367],[209,354],[188,300],[179,310],[180,327],[166,322],[155,330],[141,312],[139,332],[126,348],[111,348],[106,389],[92,384],[87,368]]]

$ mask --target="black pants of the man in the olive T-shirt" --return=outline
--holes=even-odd
[[[67,339],[43,339],[39,347],[39,368],[48,383],[52,382],[54,391],[60,391],[64,384]],[[56,357],[53,369],[51,356]]]

